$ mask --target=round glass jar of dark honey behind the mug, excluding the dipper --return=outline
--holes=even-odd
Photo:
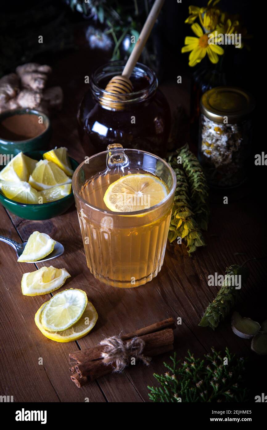
[[[118,107],[103,102],[105,87],[123,72],[122,61],[98,68],[90,79],[90,89],[78,109],[78,132],[85,154],[105,151],[109,144],[141,149],[165,157],[171,127],[171,111],[165,95],[158,89],[155,73],[137,63],[130,80],[134,91],[123,97]]]

